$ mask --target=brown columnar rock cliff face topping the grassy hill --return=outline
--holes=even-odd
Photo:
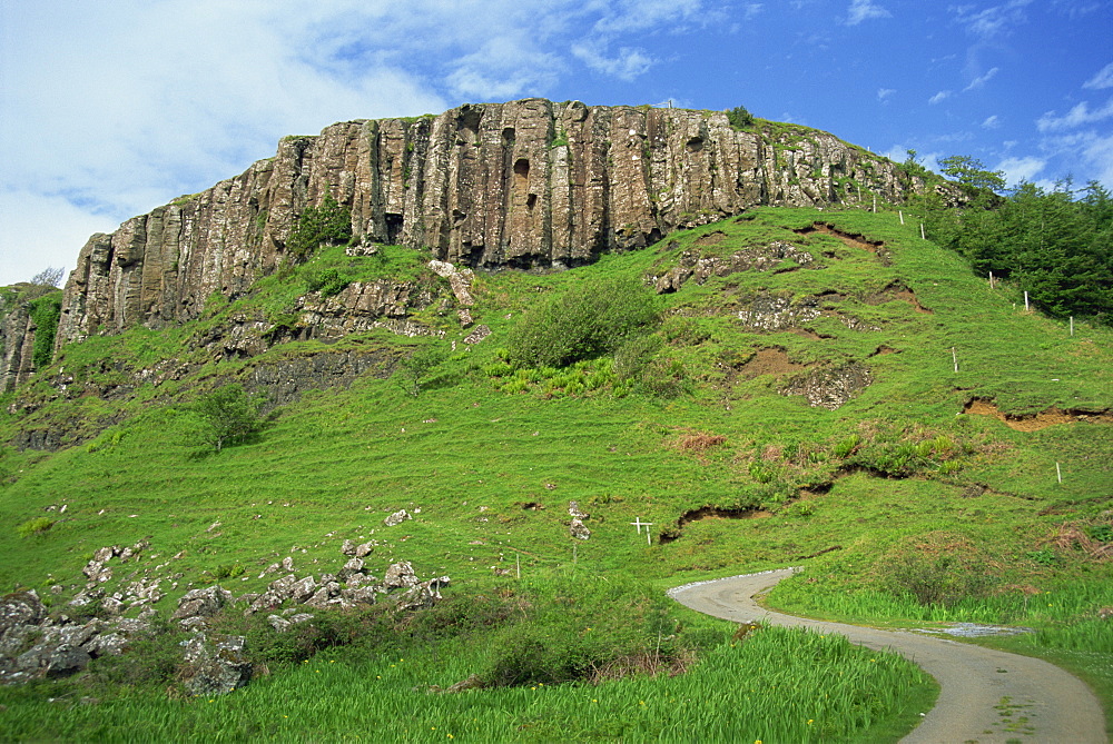
[[[726,115],[528,99],[336,123],[274,158],[95,235],[66,286],[58,344],[199,315],[275,269],[332,194],[364,241],[470,267],[562,267],[755,205],[899,201],[898,166],[831,135],[736,131]]]

